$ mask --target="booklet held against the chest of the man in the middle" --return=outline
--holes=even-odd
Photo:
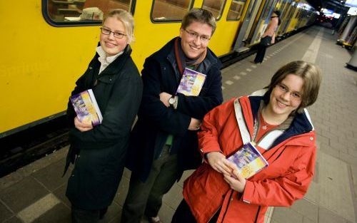
[[[186,96],[198,96],[205,80],[206,75],[203,73],[185,68],[176,93],[182,93]]]

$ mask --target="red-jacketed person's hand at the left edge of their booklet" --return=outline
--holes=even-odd
[[[213,170],[221,172],[223,175],[231,175],[233,167],[236,167],[236,165],[229,162],[226,156],[221,152],[208,152],[206,157]]]

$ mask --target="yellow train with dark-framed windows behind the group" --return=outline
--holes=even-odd
[[[273,9],[282,36],[308,26],[316,12],[300,0],[20,0],[1,1],[0,138],[64,115],[69,93],[99,41],[103,13],[121,8],[135,19],[133,58],[144,59],[179,33],[192,7],[213,12],[209,47],[218,56],[258,43]]]

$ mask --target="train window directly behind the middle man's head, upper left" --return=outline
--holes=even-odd
[[[151,9],[152,21],[181,21],[191,9],[191,0],[154,0]]]

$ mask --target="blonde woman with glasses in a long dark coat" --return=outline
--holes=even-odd
[[[121,180],[143,90],[130,56],[133,33],[134,19],[129,12],[110,11],[101,26],[96,55],[71,93],[92,89],[103,115],[102,123],[93,127],[79,121],[71,103],[67,108],[71,145],[66,170],[69,162],[74,163],[74,170],[66,196],[71,202],[72,222],[99,222]]]

